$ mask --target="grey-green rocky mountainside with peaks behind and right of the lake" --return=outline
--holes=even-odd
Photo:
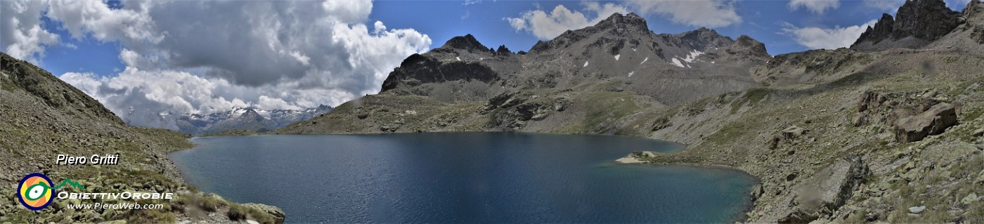
[[[948,22],[918,19],[953,16],[935,7],[941,4],[910,1],[900,19],[880,23],[905,21],[894,35],[901,38],[880,25],[859,38],[918,44],[771,58],[747,37],[718,38],[706,29],[652,34],[639,30],[645,23],[633,15],[613,15],[516,55],[464,36],[456,42],[467,44],[408,58],[379,94],[273,133],[520,131],[674,140],[688,149],[628,156],[759,177],[748,222],[979,223],[982,8],[971,1],[950,30],[941,27]]]

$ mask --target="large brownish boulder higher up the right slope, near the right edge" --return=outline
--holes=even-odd
[[[939,103],[915,116],[895,121],[895,140],[912,142],[930,135],[939,135],[957,124],[956,109],[949,103]]]

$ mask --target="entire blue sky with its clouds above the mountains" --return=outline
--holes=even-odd
[[[959,11],[969,0],[945,1]],[[773,55],[832,49],[904,2],[11,0],[0,1],[0,50],[132,120],[163,110],[335,106],[378,92],[404,58],[453,36],[528,50],[614,12],[637,13],[656,33],[747,34]]]

